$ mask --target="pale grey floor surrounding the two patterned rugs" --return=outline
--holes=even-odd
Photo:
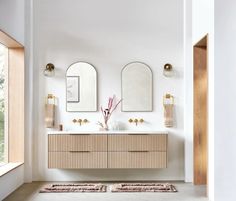
[[[38,193],[46,182],[24,184],[4,201],[207,201],[206,186],[171,182],[177,193]]]

